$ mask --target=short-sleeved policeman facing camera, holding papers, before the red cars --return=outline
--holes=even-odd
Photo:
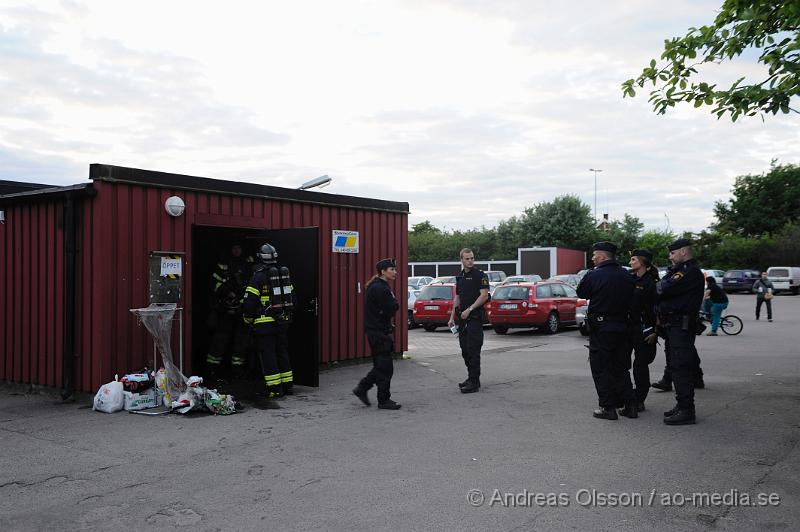
[[[475,393],[481,387],[483,347],[483,305],[489,300],[489,277],[475,268],[475,254],[464,248],[459,254],[464,269],[456,276],[456,297],[448,326],[452,329],[458,313],[458,344],[467,366],[467,380],[459,383],[461,393]]]

